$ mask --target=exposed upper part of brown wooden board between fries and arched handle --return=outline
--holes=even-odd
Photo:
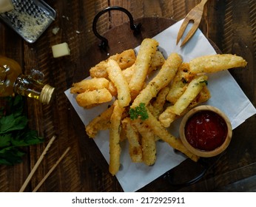
[[[89,75],[90,67],[98,64],[98,62],[106,60],[110,55],[114,55],[124,50],[135,48],[141,44],[144,38],[152,38],[153,36],[161,33],[167,27],[175,23],[169,18],[139,18],[135,20],[135,24],[141,23],[141,33],[134,35],[133,31],[129,28],[129,22],[114,27],[107,33],[100,34],[107,38],[109,47],[107,52],[101,50],[98,44],[101,40],[98,39],[95,44],[92,44],[90,50],[81,58],[84,62],[84,68],[79,68],[75,71],[74,82],[81,81],[81,78],[86,78]]]

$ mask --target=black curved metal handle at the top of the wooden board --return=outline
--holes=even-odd
[[[104,13],[107,13],[110,10],[120,10],[121,12],[124,12],[127,14],[127,16],[129,17],[129,24],[130,24],[130,28],[131,30],[133,30],[134,35],[137,35],[138,33],[141,33],[141,23],[138,24],[134,24],[133,18],[132,18],[132,14],[129,13],[128,10],[124,9],[123,7],[118,7],[118,6],[113,6],[113,7],[107,7],[104,10],[101,10],[101,12],[97,13],[97,15],[95,16],[95,18],[93,19],[93,23],[92,23],[92,31],[95,34],[95,36],[99,39],[101,39],[101,44],[99,44],[98,46],[103,49],[103,50],[107,50],[107,47],[109,47],[107,38],[104,38],[103,36],[101,36],[98,31],[97,31],[97,21],[98,18],[100,18],[100,16]]]

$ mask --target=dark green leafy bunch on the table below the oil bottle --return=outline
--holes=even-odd
[[[14,165],[22,162],[22,147],[42,143],[44,139],[28,128],[20,95],[4,101],[7,104],[0,109],[0,164]]]

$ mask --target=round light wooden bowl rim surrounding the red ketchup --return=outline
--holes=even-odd
[[[187,125],[187,124],[189,124],[188,121],[191,121],[192,118],[195,118],[195,115],[199,115],[199,114],[207,113],[207,112],[209,114],[216,115],[216,117],[218,117],[218,115],[219,115],[220,119],[222,118],[222,121],[224,121],[226,123],[226,129],[225,129],[225,130],[227,130],[225,133],[226,137],[224,138],[224,136],[223,136],[223,138],[224,138],[223,143],[220,143],[220,146],[217,146],[214,149],[202,149],[201,147],[192,146],[192,144],[189,143],[188,139],[186,138],[185,131],[186,131],[187,127],[189,127]],[[195,123],[195,124],[198,124],[198,123]],[[203,125],[203,126],[205,126],[205,125]],[[202,128],[202,125],[200,127],[201,127],[200,129],[203,129],[203,130],[201,130],[201,132],[202,131],[204,132],[204,130],[207,130],[207,129]],[[193,131],[194,128],[191,127],[191,130]],[[192,131],[190,131],[190,132],[192,132]],[[194,153],[195,155],[198,155],[199,157],[213,157],[213,156],[219,155],[221,152],[223,152],[229,146],[229,143],[232,138],[232,126],[229,121],[229,118],[227,118],[227,116],[223,112],[221,112],[220,109],[217,109],[214,106],[207,106],[207,105],[197,106],[194,109],[191,109],[189,112],[187,112],[186,115],[184,115],[184,117],[181,121],[181,125],[180,125],[180,136],[181,136],[181,141],[183,142],[184,146],[186,146],[186,148],[190,152]],[[187,134],[187,136],[189,136],[189,135]],[[195,137],[196,136],[194,136],[193,138],[196,139]],[[199,140],[196,140],[196,141],[200,142]],[[201,143],[203,143],[203,142],[201,142]],[[193,144],[193,145],[195,145],[195,144]]]

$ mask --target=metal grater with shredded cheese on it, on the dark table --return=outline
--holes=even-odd
[[[0,18],[29,43],[35,42],[54,21],[52,7],[40,0],[13,0],[14,10],[1,13]]]

